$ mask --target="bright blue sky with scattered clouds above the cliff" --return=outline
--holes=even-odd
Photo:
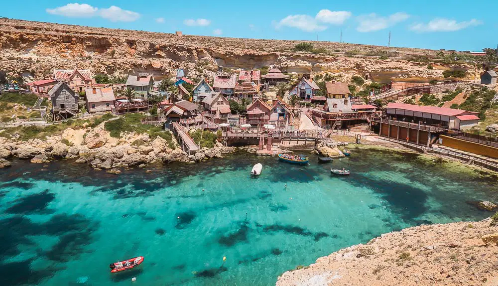
[[[304,4],[308,3],[308,4]],[[63,1],[2,3],[0,16],[184,34],[479,51],[496,47],[497,1]]]

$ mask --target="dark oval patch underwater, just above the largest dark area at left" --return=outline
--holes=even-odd
[[[41,193],[23,196],[14,200],[14,205],[9,207],[6,212],[13,214],[53,213],[53,210],[46,208],[54,199],[54,194],[49,193],[48,190],[44,190]]]

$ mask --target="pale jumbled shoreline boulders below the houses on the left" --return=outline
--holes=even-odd
[[[76,163],[89,164],[95,169],[118,174],[119,168],[151,163],[194,163],[209,158],[221,158],[223,154],[234,152],[236,149],[217,143],[213,148],[202,148],[194,154],[188,154],[178,147],[174,139],[173,143],[168,143],[161,137],[151,140],[147,134],[127,134],[121,139],[116,139],[111,138],[101,127],[90,130],[84,140],[69,142],[71,146],[61,141],[62,138],[59,137],[27,142],[0,138],[0,158],[16,156],[20,159],[29,159],[32,163],[46,163],[64,158],[75,159]],[[171,146],[174,146],[173,149]],[[5,162],[4,165],[7,164]]]

